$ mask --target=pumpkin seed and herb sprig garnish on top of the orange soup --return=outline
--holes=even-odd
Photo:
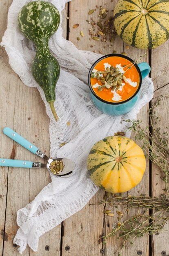
[[[134,61],[128,65],[123,65],[122,68],[127,67],[127,70],[131,69],[134,64],[138,63],[141,60],[143,54],[137,61]],[[125,70],[125,72],[127,72]],[[118,67],[107,67],[105,71],[96,71],[91,73],[91,78],[97,78],[98,81],[101,82],[101,85],[98,87],[98,91],[101,92],[104,88],[111,88],[111,90],[119,90],[123,83],[127,83],[127,79],[125,77],[125,72],[120,72],[120,68]]]

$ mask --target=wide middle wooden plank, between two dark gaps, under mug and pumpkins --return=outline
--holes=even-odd
[[[109,14],[112,13],[111,10],[114,8],[114,5],[117,1],[107,2],[104,7],[109,9]],[[102,1],[97,1],[98,6],[102,5]],[[95,9],[95,3],[84,0],[83,2],[80,0],[74,0],[70,2],[70,14],[69,14],[69,40],[73,42],[78,49],[89,50],[89,51],[102,51],[103,54],[112,53],[113,50],[116,50],[118,53],[127,52],[128,56],[133,59],[138,59],[140,55],[142,55],[145,51],[141,51],[138,49],[134,49],[130,47],[130,49],[125,49],[125,45],[120,38],[117,38],[113,43],[113,46],[109,47],[109,42],[103,43],[100,41],[89,40],[90,36],[88,35],[90,25],[86,22],[86,19],[90,19],[91,17],[94,20],[98,20],[98,11],[88,15],[89,9]],[[97,9],[96,9],[97,10]],[[109,15],[110,16],[110,15]],[[79,27],[73,29],[73,25],[78,23]],[[80,30],[82,30],[85,34],[84,38],[80,37]],[[96,30],[97,31],[97,30]],[[80,41],[77,40],[77,37],[80,37]],[[93,47],[90,47],[93,45]],[[106,48],[104,47],[106,46]],[[147,58],[143,58],[142,61],[147,61]],[[138,118],[143,121],[143,124],[147,126],[148,124],[148,105],[142,108],[140,111]],[[147,162],[147,170],[143,177],[142,182],[132,191],[133,195],[139,195],[140,193],[149,194],[149,164]],[[96,203],[99,200],[102,200],[103,192],[100,190],[98,193],[91,199],[90,203]],[[112,207],[112,211],[113,207]],[[125,211],[124,208],[121,208],[121,211]],[[128,214],[128,216],[134,215],[136,211],[133,211]],[[125,214],[125,218],[127,218]],[[64,236],[62,238],[62,256],[67,255],[92,255],[98,256],[100,254],[100,248],[102,248],[101,243],[98,245],[96,240],[100,236],[100,232],[103,230],[103,234],[108,234],[112,226],[117,224],[117,216],[113,218],[111,217],[103,217],[102,215],[102,205],[89,207],[87,205],[84,209],[82,209],[79,213],[76,213],[71,218],[64,221]],[[82,231],[80,231],[80,227],[83,227]],[[68,245],[70,247],[69,251],[65,250],[65,246]],[[105,249],[106,256],[112,256],[116,249],[120,246],[120,240],[117,238],[111,238],[108,240],[107,245],[103,249]],[[149,255],[149,237],[145,236],[144,238],[140,238],[137,240],[133,246],[127,245],[125,247],[124,253],[126,256],[129,255],[137,255],[138,250],[142,250],[142,254],[144,256]]]

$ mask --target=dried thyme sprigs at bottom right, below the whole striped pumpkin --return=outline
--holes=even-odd
[[[158,235],[167,220],[169,220],[169,195],[161,195],[159,197],[146,197],[145,195],[121,197],[114,195],[108,200],[98,202],[98,204],[110,204],[115,208],[119,205],[125,205],[127,209],[132,207],[138,208],[136,216],[132,216],[122,223],[118,222],[117,227],[113,228],[106,236],[101,237],[104,244],[107,243],[109,237],[117,234],[118,238],[123,238],[118,256],[122,256],[122,250],[127,240],[133,244],[135,238],[142,237],[145,234]],[[140,208],[145,209],[143,214],[139,214]],[[153,209],[154,212],[149,215],[148,209]],[[118,211],[119,213],[121,212]]]

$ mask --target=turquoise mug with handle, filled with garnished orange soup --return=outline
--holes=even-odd
[[[142,78],[151,68],[121,54],[109,54],[96,61],[89,71],[89,87],[94,104],[109,115],[129,112],[137,103]]]

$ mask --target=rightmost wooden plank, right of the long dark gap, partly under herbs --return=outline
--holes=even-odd
[[[169,59],[167,58],[169,52],[169,41],[167,41],[164,45],[153,49],[151,55],[151,66],[152,66],[152,79],[154,82],[154,99],[152,103],[154,104],[160,95],[169,95]],[[165,54],[164,54],[165,53]],[[159,68],[160,67],[160,68]],[[160,128],[161,133],[166,131],[166,126],[169,127],[169,98],[163,97],[161,99],[161,104],[157,109],[157,116],[160,119]],[[162,175],[162,171],[155,166],[152,165],[152,195],[159,196],[164,191],[162,189],[165,188],[164,182],[160,179],[160,174]],[[160,234],[152,236],[152,256],[157,255],[169,255],[169,242],[168,235],[169,232],[169,223],[167,223],[164,229],[160,232]],[[162,254],[165,252],[166,254]]]

